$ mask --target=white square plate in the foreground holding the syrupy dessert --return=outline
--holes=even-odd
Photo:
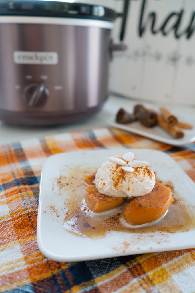
[[[64,196],[56,195],[54,186],[61,170],[68,175],[69,167],[101,166],[107,156],[124,154],[127,149],[105,149],[61,153],[46,159],[42,168],[39,209],[37,221],[37,243],[42,253],[56,261],[81,261],[108,258],[120,255],[192,248],[195,246],[195,229],[186,232],[146,233],[112,231],[104,238],[90,240],[77,236],[63,228],[65,216]],[[149,161],[163,182],[172,182],[175,191],[191,206],[195,206],[195,184],[167,154],[150,149],[131,149],[137,159]],[[78,169],[79,172],[79,169]],[[68,195],[67,195],[68,196]],[[52,207],[54,212],[48,212]],[[57,216],[55,211],[58,212]],[[117,248],[117,249],[116,249]]]

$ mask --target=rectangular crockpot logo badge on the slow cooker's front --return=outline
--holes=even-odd
[[[16,64],[58,64],[56,52],[14,51],[13,60]]]

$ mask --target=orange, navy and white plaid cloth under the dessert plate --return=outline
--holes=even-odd
[[[39,251],[36,225],[45,159],[65,151],[120,146],[165,151],[195,181],[195,145],[172,147],[114,128],[0,146],[1,292],[195,292],[195,249],[80,263],[55,262]]]

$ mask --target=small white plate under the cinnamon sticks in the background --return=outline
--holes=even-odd
[[[153,108],[155,108],[153,106]],[[158,108],[156,109],[158,111]],[[121,130],[139,134],[141,136],[156,140],[158,142],[163,142],[165,144],[170,144],[173,146],[181,146],[190,144],[195,141],[195,115],[192,113],[182,113],[181,111],[174,111],[176,117],[180,117],[180,121],[189,123],[193,126],[193,129],[187,130],[183,129],[184,137],[180,139],[173,138],[169,133],[167,133],[160,126],[155,127],[145,127],[141,125],[140,122],[136,121],[133,123],[120,124],[115,122],[115,117],[108,121],[108,124],[112,127],[116,127]]]

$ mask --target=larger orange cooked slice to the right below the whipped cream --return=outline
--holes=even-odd
[[[132,225],[149,223],[163,216],[172,202],[170,188],[156,182],[150,193],[135,197],[126,205],[122,215]]]

